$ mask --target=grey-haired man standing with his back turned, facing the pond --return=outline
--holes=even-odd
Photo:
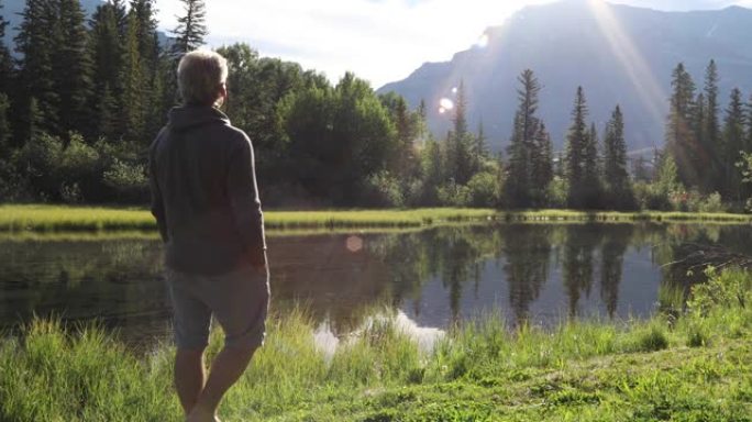
[[[226,77],[219,54],[185,55],[184,104],[150,149],[152,213],[166,243],[175,310],[175,387],[189,422],[219,421],[222,397],[264,341],[269,300],[253,147],[217,109],[226,100]],[[225,340],[207,378],[212,314]]]

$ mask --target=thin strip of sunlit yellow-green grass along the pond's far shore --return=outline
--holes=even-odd
[[[457,222],[714,222],[750,223],[752,215],[684,212],[583,212],[540,210],[504,212],[488,209],[267,211],[270,230],[395,229]],[[143,209],[64,206],[0,206],[0,231],[154,231],[155,222]]]

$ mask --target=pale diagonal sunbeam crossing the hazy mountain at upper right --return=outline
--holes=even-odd
[[[622,68],[627,71],[632,87],[651,118],[659,124],[664,121],[664,103],[667,97],[661,84],[652,74],[645,58],[624,32],[621,23],[611,11],[611,5],[602,0],[588,0],[600,32],[611,46]]]

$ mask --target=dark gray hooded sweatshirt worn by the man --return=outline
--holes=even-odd
[[[266,265],[253,146],[210,107],[183,107],[150,148],[152,213],[170,269],[220,275]]]

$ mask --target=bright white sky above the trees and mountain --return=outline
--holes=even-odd
[[[300,63],[336,81],[354,71],[374,88],[425,62],[444,62],[482,41],[488,26],[552,0],[208,0],[210,47],[245,42],[263,56]],[[613,0],[659,10],[752,8],[752,0]],[[161,29],[173,30],[178,0],[158,0]]]

